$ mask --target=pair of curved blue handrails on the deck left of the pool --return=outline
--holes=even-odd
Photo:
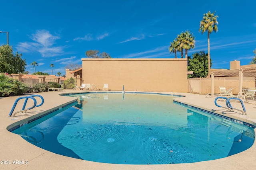
[[[41,104],[36,105],[36,99],[34,97],[40,97],[42,99]],[[18,101],[21,100],[21,99],[25,99],[25,102],[23,104],[22,109],[20,111],[16,111],[15,113],[13,113]],[[28,102],[28,99],[32,99],[34,101],[34,105],[32,107],[28,107],[28,108],[25,109],[26,104]],[[28,110],[33,109],[34,107],[42,106],[42,104],[44,104],[44,98],[42,96],[38,95],[38,94],[20,97],[20,98],[16,99],[16,101],[14,102],[14,104],[12,106],[12,110],[10,111],[10,114],[9,114],[8,117],[14,117],[17,113],[26,113]]]

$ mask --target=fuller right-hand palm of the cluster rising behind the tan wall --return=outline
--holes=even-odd
[[[188,58],[188,50],[194,49],[195,47],[195,37],[190,31],[182,32],[182,47],[185,49],[185,58]]]

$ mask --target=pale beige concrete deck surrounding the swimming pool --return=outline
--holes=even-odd
[[[20,124],[23,120],[27,121],[31,119],[33,115],[40,115],[46,113],[47,110],[54,110],[68,102],[73,102],[77,98],[60,96],[59,94],[81,92],[78,90],[64,90],[62,92],[44,92],[38,93],[43,96],[44,104],[40,107],[35,107],[27,111],[26,114],[16,114],[16,118],[8,118],[10,110],[15,100],[21,96],[1,97],[0,98],[0,170],[30,170],[30,169],[104,169],[104,170],[224,170],[224,169],[255,169],[256,162],[256,142],[254,145],[244,152],[235,154],[226,158],[218,160],[210,160],[195,163],[186,164],[161,164],[161,165],[126,165],[126,164],[106,164],[98,162],[90,162],[86,160],[80,160],[70,158],[49,152],[28,143],[22,137],[14,134],[7,129],[13,127],[13,124]],[[188,104],[191,106],[199,107],[214,113],[219,113],[227,117],[232,117],[241,121],[248,122],[256,125],[256,106],[254,104],[245,103],[246,112],[248,115],[242,115],[239,111],[228,112],[226,109],[215,106],[214,98],[205,98],[205,95],[190,94],[190,93],[166,93],[164,94],[177,94],[186,96],[183,98],[175,98],[176,101]],[[37,99],[37,98],[36,98]],[[38,99],[40,101],[40,99]],[[22,107],[22,104],[18,104],[18,107]],[[224,102],[220,102],[222,104]],[[240,102],[232,103],[234,107],[240,107]],[[255,130],[254,130],[255,132]],[[7,164],[10,163],[10,164]]]

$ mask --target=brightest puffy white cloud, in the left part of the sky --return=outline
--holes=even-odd
[[[42,57],[54,57],[64,53],[63,46],[53,47],[55,41],[60,37],[50,34],[47,30],[37,30],[30,38],[34,42],[20,42],[17,45],[17,50],[22,53],[38,51]]]

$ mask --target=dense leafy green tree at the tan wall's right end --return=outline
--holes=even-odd
[[[188,70],[193,71],[193,74],[188,74],[188,78],[206,77],[208,75],[208,54],[200,51],[192,54],[192,58],[188,57]]]

